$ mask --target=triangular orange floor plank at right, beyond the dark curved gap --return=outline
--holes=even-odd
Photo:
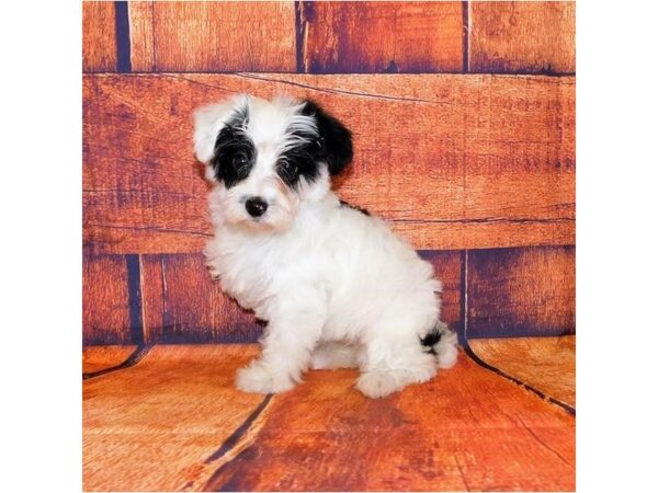
[[[576,336],[477,339],[473,352],[489,365],[576,406]]]

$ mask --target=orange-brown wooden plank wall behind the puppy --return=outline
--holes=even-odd
[[[313,98],[354,133],[334,187],[442,278],[469,336],[575,332],[575,4],[84,2],[87,344],[251,342],[201,250],[191,112]]]

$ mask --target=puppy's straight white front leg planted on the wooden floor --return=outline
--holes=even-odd
[[[245,392],[279,393],[295,387],[310,362],[325,317],[305,310],[297,316],[274,318],[262,340],[259,359],[238,370],[236,385]]]

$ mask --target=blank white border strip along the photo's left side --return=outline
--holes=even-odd
[[[8,2],[1,489],[81,491],[81,3]]]

